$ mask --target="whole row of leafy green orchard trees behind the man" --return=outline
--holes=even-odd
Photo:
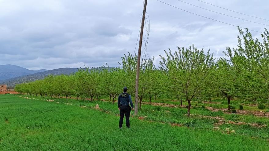
[[[238,48],[227,48],[225,57],[215,59],[213,54],[199,50],[193,45],[178,51],[165,51],[160,56],[160,67],[153,65],[153,59],[143,59],[139,77],[140,108],[143,98],[156,95],[176,97],[188,102],[190,115],[191,100],[211,100],[222,96],[236,97],[252,102],[268,102],[269,99],[269,33],[261,34],[262,41],[253,39],[246,29],[239,30]],[[49,75],[44,80],[17,84],[15,90],[32,95],[68,95],[90,97],[110,95],[113,102],[122,93],[124,86],[128,93],[135,93],[137,56],[124,55],[118,68],[108,66],[81,68],[72,75]]]

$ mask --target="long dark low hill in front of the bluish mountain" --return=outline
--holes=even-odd
[[[13,77],[10,79],[6,79],[4,81],[0,81],[0,84],[7,84],[7,86],[9,88],[14,88],[16,84],[35,81],[35,80],[41,80],[41,79],[44,79],[49,74],[53,74],[53,75],[67,74],[67,75],[70,75],[72,73],[77,72],[78,70],[79,70],[78,68],[60,68],[60,69],[54,69],[54,70],[47,70],[47,71],[38,72],[35,74],[29,74],[29,75],[25,75],[25,76]]]

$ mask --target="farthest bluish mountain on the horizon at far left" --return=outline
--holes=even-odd
[[[35,74],[35,73],[43,72],[43,71],[47,71],[47,70],[45,70],[45,69],[28,70],[26,68],[11,65],[11,64],[0,65],[0,81],[10,79],[13,77],[24,76],[24,75],[28,75],[28,74]]]

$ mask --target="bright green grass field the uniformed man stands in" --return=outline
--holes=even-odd
[[[116,104],[73,99],[53,99],[54,102],[48,102],[44,99],[0,95],[1,151],[269,150],[268,126],[253,128],[249,125],[228,124],[214,131],[215,119],[187,118],[186,109],[183,108],[143,105],[139,115],[148,118],[139,120],[133,117],[130,119],[131,129],[119,129]],[[99,104],[102,110],[94,109],[95,104]],[[191,113],[227,120],[231,116],[202,108],[193,109]],[[266,125],[269,123],[266,118],[247,115],[238,115],[238,119],[248,122],[256,120]],[[171,126],[171,123],[182,124],[182,127]],[[227,134],[225,128],[236,132]]]

